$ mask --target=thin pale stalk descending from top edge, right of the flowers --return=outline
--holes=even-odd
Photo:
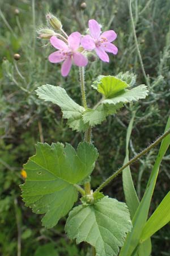
[[[144,68],[144,65],[143,65],[141,52],[140,52],[139,46],[138,46],[137,34],[136,34],[136,31],[135,31],[133,14],[132,14],[132,10],[131,10],[131,0],[129,0],[129,13],[130,13],[130,19],[131,19],[131,24],[132,24],[132,28],[133,28],[133,35],[134,35],[135,45],[137,47],[139,62],[141,64],[141,69],[142,69],[142,72],[143,72],[143,76],[145,77],[147,86],[150,86],[150,83],[148,82],[148,77],[146,76],[145,68]]]

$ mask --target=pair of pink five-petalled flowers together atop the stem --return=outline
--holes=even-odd
[[[88,21],[88,27],[90,34],[85,36],[79,32],[73,32],[67,36],[61,28],[63,36],[56,34],[50,37],[50,43],[57,51],[49,55],[49,61],[51,63],[63,62],[62,76],[69,74],[72,64],[78,67],[86,66],[89,51],[95,51],[96,55],[104,62],[109,62],[107,52],[117,54],[117,47],[111,43],[117,37],[116,32],[108,30],[101,33],[101,26],[95,19]]]

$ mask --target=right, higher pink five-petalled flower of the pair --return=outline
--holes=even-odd
[[[81,44],[87,51],[95,49],[99,58],[105,62],[109,62],[109,56],[106,52],[117,54],[117,47],[111,44],[116,39],[117,35],[113,30],[105,31],[101,34],[100,25],[95,19],[88,21],[90,35],[82,38]]]

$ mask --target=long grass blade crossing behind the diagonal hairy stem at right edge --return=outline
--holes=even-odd
[[[170,127],[170,117],[168,118],[165,131],[167,131],[169,127]],[[160,145],[160,150],[158,152],[158,156],[156,158],[154,168],[152,169],[150,179],[148,180],[145,194],[133,218],[133,229],[131,230],[131,233],[129,233],[126,238],[125,244],[121,249],[120,256],[131,256],[135,248],[138,246],[138,243],[141,238],[142,230],[147,220],[151,198],[154,192],[156,179],[159,173],[159,167],[162,162],[163,156],[165,155],[165,152],[169,147],[169,144],[170,144],[170,135],[167,135],[167,137],[163,139]]]

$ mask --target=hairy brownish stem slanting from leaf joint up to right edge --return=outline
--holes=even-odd
[[[124,166],[122,166],[120,169],[118,169],[114,174],[112,174],[110,177],[108,177],[107,180],[102,183],[94,193],[99,192],[101,189],[103,189],[105,186],[107,186],[118,174],[120,174],[126,167],[130,166],[130,164],[134,163],[138,158],[140,158],[142,155],[145,155],[148,151],[151,150],[151,148],[158,145],[162,139],[164,139],[168,134],[170,134],[170,129],[167,130],[162,136],[160,136],[154,143],[152,143],[150,146],[148,146],[145,150],[143,150],[141,153],[136,155],[134,158],[132,158],[128,163],[126,163]]]

